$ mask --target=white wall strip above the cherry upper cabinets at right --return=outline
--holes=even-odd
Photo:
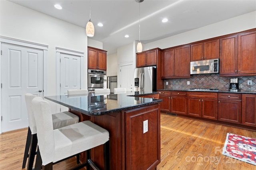
[[[172,37],[160,39],[152,43],[144,44],[143,51],[154,49],[156,47],[166,49],[177,45],[188,44],[252,28],[256,28],[256,11],[174,35]]]

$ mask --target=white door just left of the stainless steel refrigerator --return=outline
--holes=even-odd
[[[120,87],[134,90],[134,68],[132,64],[120,66]]]

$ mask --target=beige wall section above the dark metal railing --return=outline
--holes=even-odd
[[[107,55],[107,76],[117,76],[117,53]]]

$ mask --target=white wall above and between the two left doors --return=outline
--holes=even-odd
[[[48,45],[48,93],[56,95],[56,49],[60,47],[84,53],[84,77],[87,88],[87,36],[85,28],[0,0],[0,35]]]

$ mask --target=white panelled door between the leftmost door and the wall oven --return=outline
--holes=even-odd
[[[81,57],[60,53],[60,95],[66,95],[68,90],[81,88]],[[68,108],[60,106],[61,111]]]

